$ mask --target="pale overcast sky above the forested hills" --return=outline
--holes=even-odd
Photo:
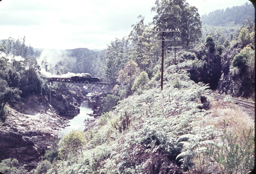
[[[72,3],[71,3],[72,2]],[[187,0],[200,15],[240,6],[248,0]],[[0,40],[26,36],[26,44],[45,49],[104,49],[128,36],[142,15],[152,22],[155,0],[2,0]]]

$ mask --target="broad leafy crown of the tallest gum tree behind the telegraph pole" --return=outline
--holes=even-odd
[[[153,23],[159,30],[179,28],[181,45],[193,47],[202,37],[202,22],[198,10],[185,0],[156,0],[151,11],[156,12]]]

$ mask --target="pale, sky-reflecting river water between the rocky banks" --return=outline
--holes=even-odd
[[[90,95],[86,95],[90,97]],[[61,117],[65,117],[70,121],[68,123],[68,127],[65,127],[62,131],[59,132],[58,137],[62,137],[63,135],[67,134],[68,132],[72,131],[73,129],[76,130],[84,130],[84,120],[87,118],[94,118],[89,116],[88,114],[92,113],[93,110],[88,107],[88,102],[82,102],[79,113],[67,113],[66,115],[60,115]],[[77,115],[77,116],[76,116]]]

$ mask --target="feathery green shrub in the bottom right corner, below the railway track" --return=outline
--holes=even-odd
[[[227,130],[227,122],[223,122],[221,135],[222,145],[215,152],[215,160],[222,164],[228,174],[246,174],[254,166],[254,128],[243,130],[243,135],[238,140],[238,135],[233,135]]]

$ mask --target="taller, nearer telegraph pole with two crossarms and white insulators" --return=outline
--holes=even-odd
[[[177,37],[172,38],[172,39],[169,39],[169,40],[166,40],[165,37],[164,37],[164,33],[180,33],[180,29],[177,30],[177,28],[175,30],[172,31],[172,29],[170,29],[170,31],[148,31],[148,33],[162,33],[162,40],[149,40],[149,41],[162,41],[162,66],[161,66],[161,90],[163,90],[163,82],[164,82],[164,48],[167,47],[165,46],[164,47],[164,41],[179,41],[179,38],[177,39]]]

